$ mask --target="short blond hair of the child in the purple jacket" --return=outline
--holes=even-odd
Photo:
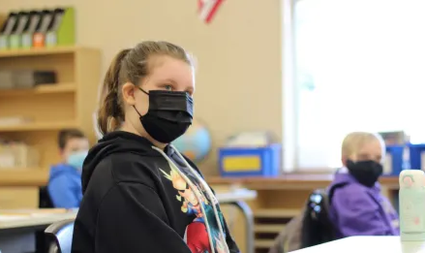
[[[382,148],[382,159],[385,157],[386,146],[384,139],[379,134],[368,133],[368,132],[353,132],[348,134],[343,141],[341,148],[342,157],[349,157],[353,154],[357,154],[362,146],[371,141],[378,141]]]

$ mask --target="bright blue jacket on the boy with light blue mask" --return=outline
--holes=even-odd
[[[81,172],[67,164],[53,165],[48,191],[55,207],[79,207],[82,199]]]

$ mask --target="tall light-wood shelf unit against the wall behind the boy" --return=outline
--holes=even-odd
[[[92,114],[98,98],[100,68],[100,51],[91,48],[0,51],[0,69],[55,70],[57,73],[54,84],[0,90],[0,118],[31,118],[26,123],[0,125],[0,137],[24,141],[36,148],[40,156],[37,167],[1,168],[0,188],[45,185],[50,165],[59,161],[57,135],[63,128],[81,129],[91,143],[95,141]]]

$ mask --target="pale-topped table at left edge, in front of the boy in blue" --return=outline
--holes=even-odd
[[[0,210],[0,250],[2,253],[34,252],[36,231],[75,216],[75,210],[64,209]]]

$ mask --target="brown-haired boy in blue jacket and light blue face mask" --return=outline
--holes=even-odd
[[[81,168],[89,150],[89,141],[81,131],[59,132],[61,162],[50,170],[48,191],[56,208],[76,208],[82,199]]]

